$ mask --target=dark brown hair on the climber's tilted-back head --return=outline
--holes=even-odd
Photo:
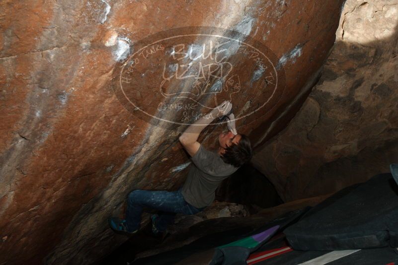
[[[225,148],[225,153],[221,155],[225,163],[235,167],[241,167],[243,164],[249,162],[253,156],[249,137],[244,134],[240,134],[240,136],[238,144],[232,142],[230,146]]]

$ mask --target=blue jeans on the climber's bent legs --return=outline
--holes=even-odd
[[[195,214],[204,208],[196,208],[186,202],[181,194],[181,189],[175,192],[135,190],[128,195],[126,220],[129,231],[140,228],[143,208],[159,210],[156,219],[156,228],[160,232],[166,230],[167,225],[174,223],[176,213]]]

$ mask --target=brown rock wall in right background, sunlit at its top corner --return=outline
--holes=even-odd
[[[398,1],[347,0],[322,76],[253,162],[285,201],[389,172],[398,159]]]

